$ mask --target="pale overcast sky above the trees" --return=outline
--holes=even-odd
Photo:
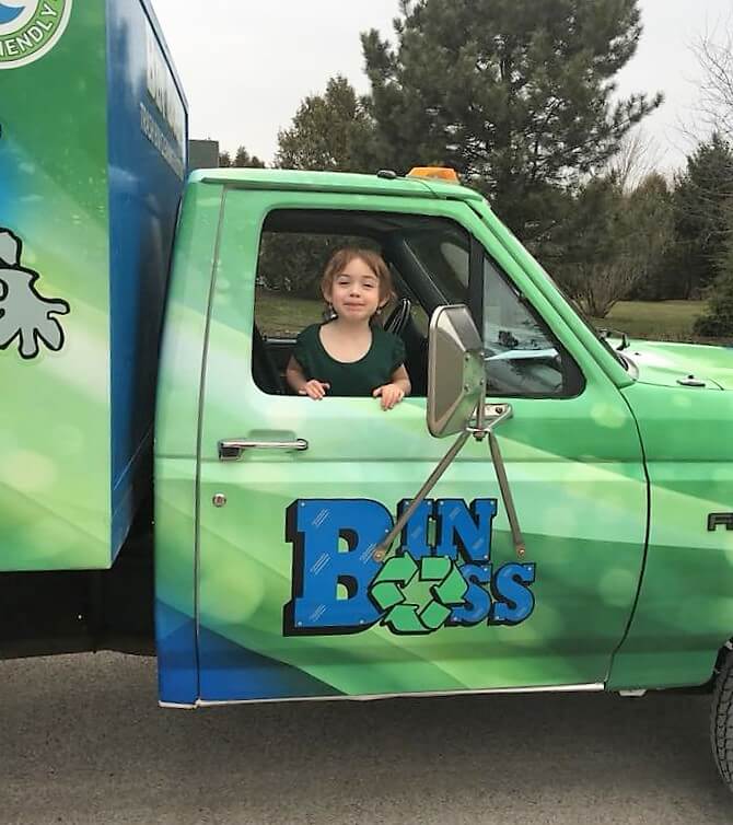
[[[307,94],[324,91],[340,72],[369,91],[359,33],[392,35],[397,0],[152,0],[190,109],[190,136],[222,149],[244,144],[270,161]],[[664,92],[645,131],[667,169],[689,149],[680,124],[694,119],[699,68],[691,44],[707,31],[733,26],[733,0],[640,0],[644,32],[619,75],[621,94]],[[184,11],[185,8],[185,11]],[[420,161],[415,159],[416,163]]]

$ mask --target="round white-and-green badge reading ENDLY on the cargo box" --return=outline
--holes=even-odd
[[[0,0],[0,69],[32,63],[54,48],[72,0]]]

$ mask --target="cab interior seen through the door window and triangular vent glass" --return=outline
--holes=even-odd
[[[452,303],[468,305],[484,329],[490,392],[536,398],[582,392],[572,358],[461,225],[399,212],[314,209],[272,211],[263,226],[252,362],[263,392],[290,393],[284,373],[295,336],[325,319],[321,277],[344,246],[373,249],[391,269],[396,299],[382,323],[405,344],[412,396],[427,394],[430,317]]]

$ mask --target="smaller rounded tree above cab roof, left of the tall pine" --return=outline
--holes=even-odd
[[[275,165],[330,172],[368,171],[363,150],[371,129],[364,101],[346,78],[337,75],[328,81],[325,94],[306,97],[292,126],[278,133]]]

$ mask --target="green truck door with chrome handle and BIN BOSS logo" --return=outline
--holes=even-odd
[[[283,219],[290,231],[266,245],[263,228],[299,211],[300,231]],[[525,557],[488,448],[470,442],[374,560],[450,444],[428,434],[419,395],[383,413],[373,398],[283,393],[289,335],[261,327],[283,306],[293,333],[319,312],[293,258],[326,212],[345,244],[363,234],[389,257],[412,307],[404,335],[424,335],[439,303],[470,304],[490,400],[514,408],[498,434]],[[201,414],[199,699],[601,689],[637,592],[647,491],[633,420],[593,353],[464,202],[231,188],[222,216]]]

